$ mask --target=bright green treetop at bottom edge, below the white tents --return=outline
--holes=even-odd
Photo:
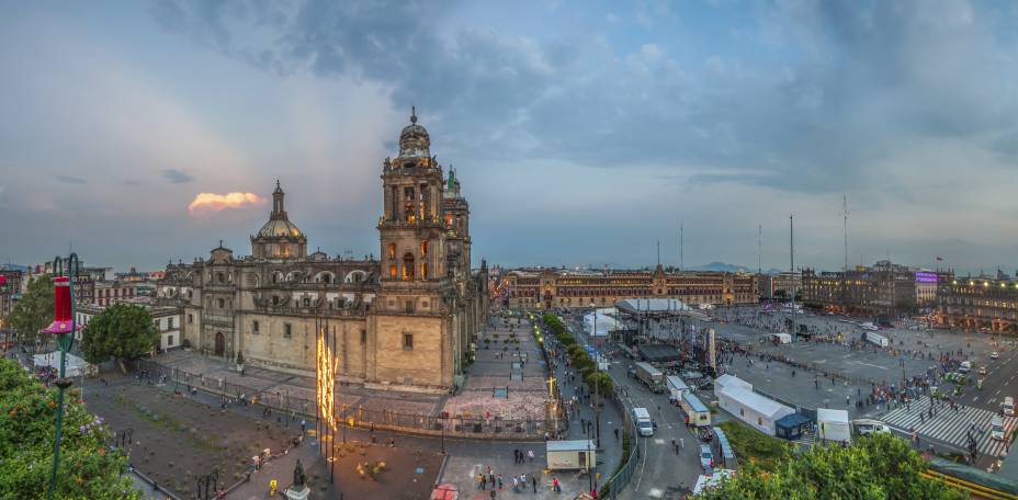
[[[736,452],[738,453],[738,452]],[[926,462],[905,440],[890,434],[860,438],[855,445],[814,446],[766,470],[750,461],[703,499],[961,500],[961,491],[924,478]]]

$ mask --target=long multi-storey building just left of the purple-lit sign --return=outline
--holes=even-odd
[[[836,312],[894,317],[917,311],[916,271],[889,261],[847,272],[802,271],[803,303]]]

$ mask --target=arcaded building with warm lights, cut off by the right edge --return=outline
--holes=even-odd
[[[937,325],[992,332],[1018,330],[1018,276],[957,276],[942,280],[938,291]]]

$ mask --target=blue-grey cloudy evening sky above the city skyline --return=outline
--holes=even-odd
[[[1018,3],[10,2],[0,261],[378,254],[415,105],[474,264],[1013,274]],[[759,232],[762,238],[758,238]]]

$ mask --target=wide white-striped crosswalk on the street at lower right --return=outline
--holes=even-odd
[[[1005,442],[989,438],[989,421],[998,413],[964,405],[959,405],[959,410],[954,411],[946,404],[941,406],[938,402],[934,407],[934,418],[929,418],[929,398],[919,398],[913,401],[909,408],[901,407],[891,410],[880,420],[903,433],[907,434],[915,429],[920,439],[932,439],[961,448],[968,447],[968,433],[972,423],[975,423],[977,429],[983,429],[982,433],[975,432],[976,448],[980,454],[999,456],[1004,452]],[[1016,425],[1018,425],[1018,419],[1004,417],[1004,435],[1010,436]]]

